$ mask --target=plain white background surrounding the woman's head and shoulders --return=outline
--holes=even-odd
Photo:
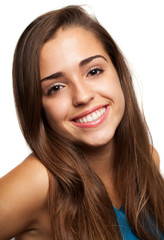
[[[12,93],[16,42],[37,16],[69,4],[87,5],[129,61],[164,173],[163,0],[5,0],[0,3],[0,177],[30,153],[17,123]]]

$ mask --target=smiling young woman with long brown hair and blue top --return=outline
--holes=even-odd
[[[13,63],[32,154],[0,180],[0,240],[164,239],[158,154],[111,36],[79,6],[38,17]]]

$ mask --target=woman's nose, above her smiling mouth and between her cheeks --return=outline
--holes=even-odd
[[[72,86],[72,103],[75,107],[86,105],[94,99],[94,94],[93,89],[84,79],[78,81]]]

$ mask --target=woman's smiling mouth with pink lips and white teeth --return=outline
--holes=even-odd
[[[82,128],[96,127],[105,120],[108,111],[109,105],[106,105],[85,116],[73,119],[72,123]]]

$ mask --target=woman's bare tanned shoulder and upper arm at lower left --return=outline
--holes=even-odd
[[[47,202],[48,171],[30,155],[0,179],[0,239],[10,238],[37,219]]]

